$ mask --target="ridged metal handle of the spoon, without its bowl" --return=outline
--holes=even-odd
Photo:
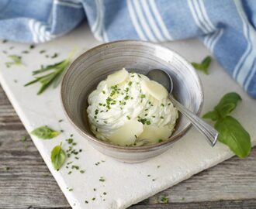
[[[206,136],[206,139],[208,139],[207,141],[209,142],[209,144],[211,146],[214,146],[219,135],[215,128],[204,122],[201,118],[199,118],[199,116],[195,115],[195,113],[185,108],[181,103],[175,100],[175,98],[173,98],[171,94],[169,94],[169,98],[173,105],[175,105],[175,107],[178,108],[178,110],[183,115],[185,115],[190,122],[192,122],[192,125],[194,125],[195,128],[199,130],[199,132]]]

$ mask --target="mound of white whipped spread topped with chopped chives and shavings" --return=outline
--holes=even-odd
[[[129,74],[125,69],[121,71],[118,71],[119,75],[116,77],[114,75],[114,78],[108,77],[105,81],[101,81],[88,97],[87,113],[92,132],[98,139],[121,146],[141,146],[167,140],[173,132],[178,118],[178,110],[168,99],[167,93],[164,98],[159,100],[151,94],[154,89],[151,91],[142,86],[144,82],[150,82],[146,76],[136,73]],[[164,87],[161,86],[161,88]],[[157,89],[157,91],[161,90]],[[165,88],[164,91],[166,91]],[[135,124],[134,122],[140,123]],[[130,125],[129,128],[134,128],[128,130],[126,137],[126,132],[120,128],[128,123],[133,123],[134,126]],[[138,129],[140,124],[140,130],[137,130],[135,134],[130,134],[134,129]],[[158,129],[159,134],[157,135]],[[119,139],[116,141],[113,135],[115,132],[117,134],[118,130],[123,134],[119,135]],[[145,130],[151,132],[150,137],[147,137]],[[165,134],[161,134],[163,130]],[[135,138],[130,139],[133,136]],[[159,139],[160,137],[161,139]],[[125,142],[122,142],[122,138]]]

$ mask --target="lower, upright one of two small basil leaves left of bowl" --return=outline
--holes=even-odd
[[[59,146],[55,146],[54,149],[51,151],[50,159],[55,170],[59,170],[64,164],[66,159],[66,153],[61,148],[61,144]]]

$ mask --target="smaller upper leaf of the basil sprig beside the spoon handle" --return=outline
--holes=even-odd
[[[234,108],[237,107],[238,101],[241,101],[240,95],[235,92],[230,92],[225,94],[221,98],[219,104],[214,108],[219,115],[224,118],[229,115],[231,111],[234,111]]]

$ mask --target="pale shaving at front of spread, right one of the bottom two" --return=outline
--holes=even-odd
[[[157,127],[154,125],[144,125],[144,131],[139,135],[139,139],[145,139],[152,143],[169,138],[171,130],[167,127]]]

